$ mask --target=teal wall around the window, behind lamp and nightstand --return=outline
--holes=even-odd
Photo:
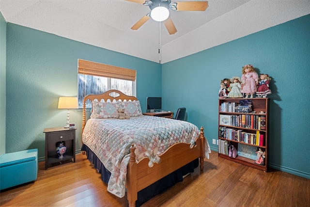
[[[77,96],[78,59],[137,70],[137,97],[145,111],[146,96],[161,95],[161,65],[90,46],[50,33],[7,23],[6,152],[38,148],[45,156],[47,127],[62,127],[66,110],[59,96]],[[149,78],[152,77],[152,78]],[[81,110],[70,110],[81,148]]]

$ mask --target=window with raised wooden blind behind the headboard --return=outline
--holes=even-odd
[[[78,60],[78,107],[83,107],[83,99],[89,94],[102,94],[110,89],[123,92],[128,96],[136,95],[136,71]],[[91,102],[86,102],[86,108]]]

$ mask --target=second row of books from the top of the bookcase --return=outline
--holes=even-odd
[[[266,116],[255,114],[238,114],[238,115],[220,114],[219,124],[232,127],[266,130]]]

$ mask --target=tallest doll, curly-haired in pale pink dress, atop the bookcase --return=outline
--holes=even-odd
[[[254,93],[257,91],[258,74],[251,64],[242,67],[241,81],[241,93],[246,94],[246,98],[249,95],[253,98]]]

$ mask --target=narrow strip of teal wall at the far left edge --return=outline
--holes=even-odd
[[[0,155],[5,153],[6,22],[0,13]]]

